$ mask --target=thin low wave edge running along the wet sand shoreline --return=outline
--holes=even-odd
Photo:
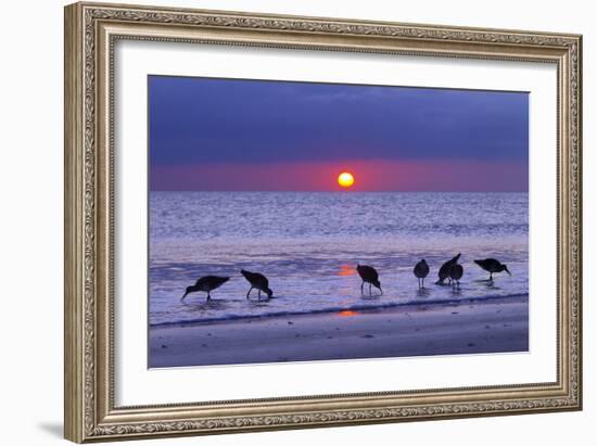
[[[183,320],[172,320],[165,322],[155,322],[150,323],[150,327],[169,327],[169,326],[185,326],[193,323],[211,323],[211,322],[223,322],[230,320],[250,320],[250,319],[266,319],[275,317],[288,317],[288,316],[304,316],[304,315],[320,315],[320,314],[332,314],[346,310],[376,310],[376,309],[388,309],[388,308],[399,308],[399,307],[414,307],[418,305],[446,305],[446,304],[462,304],[462,303],[473,303],[473,302],[483,302],[483,301],[493,301],[493,300],[505,300],[505,298],[516,298],[516,297],[525,297],[528,293],[515,293],[515,294],[496,294],[496,295],[486,295],[478,297],[466,297],[466,298],[436,298],[436,300],[418,300],[418,301],[407,301],[407,302],[386,302],[386,303],[376,303],[376,304],[355,304],[355,305],[344,305],[344,306],[333,306],[318,309],[309,309],[305,311],[300,310],[289,310],[289,311],[271,311],[263,313],[261,315],[223,315],[219,317],[206,317],[206,318],[196,318],[196,319],[183,319]]]

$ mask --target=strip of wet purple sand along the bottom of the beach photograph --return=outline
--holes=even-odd
[[[528,296],[150,329],[151,368],[528,349]]]

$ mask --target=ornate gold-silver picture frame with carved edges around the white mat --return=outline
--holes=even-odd
[[[114,47],[216,43],[557,67],[557,380],[115,405]],[[582,38],[579,35],[75,3],[65,8],[65,437],[216,434],[582,408]],[[217,383],[216,383],[217,384]],[[216,385],[215,384],[215,385]]]

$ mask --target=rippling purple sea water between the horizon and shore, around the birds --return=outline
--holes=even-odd
[[[528,193],[152,191],[150,324],[525,295],[528,235]],[[460,288],[435,285],[458,253]],[[473,263],[486,257],[512,276],[488,283]],[[423,290],[412,275],[421,258]],[[379,271],[383,296],[361,295],[357,263]],[[241,268],[265,273],[274,298],[246,300]],[[209,302],[201,292],[181,302],[207,275],[230,280]]]

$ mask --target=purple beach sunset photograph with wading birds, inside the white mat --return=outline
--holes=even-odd
[[[529,94],[149,76],[149,367],[529,349]]]

